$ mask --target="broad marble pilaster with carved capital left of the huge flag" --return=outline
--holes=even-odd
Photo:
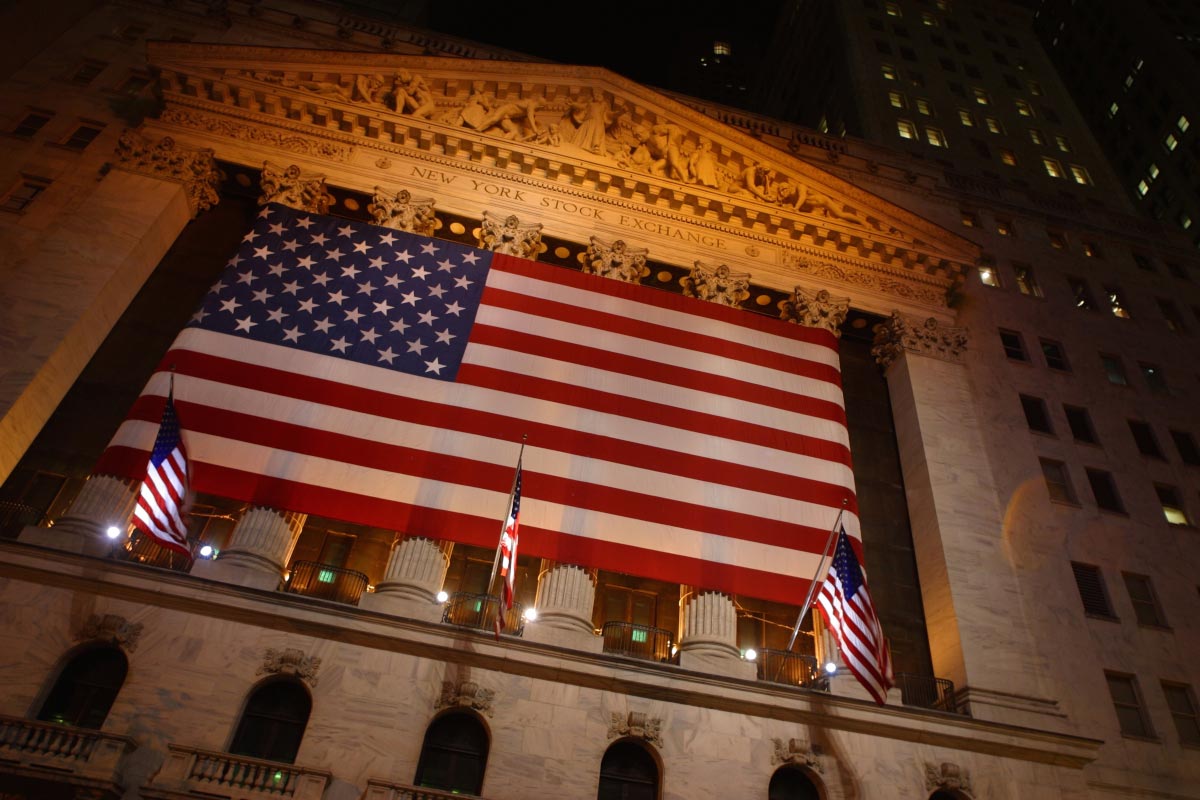
[[[0,253],[0,481],[188,219],[216,203],[211,150],[127,133],[114,161],[90,191],[79,184],[77,197],[60,201],[53,236],[26,230]],[[56,193],[38,207],[53,211],[43,201]]]

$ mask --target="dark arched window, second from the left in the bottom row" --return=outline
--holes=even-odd
[[[229,752],[292,764],[308,724],[312,699],[294,680],[262,684],[246,699]]]

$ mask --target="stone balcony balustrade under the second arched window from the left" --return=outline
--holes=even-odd
[[[320,800],[330,774],[295,764],[167,745],[167,762],[150,788],[206,796]]]

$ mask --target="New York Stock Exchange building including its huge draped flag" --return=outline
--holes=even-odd
[[[0,798],[1200,798],[1200,385],[1150,297],[1198,301],[1129,255],[1186,243],[322,4],[46,40],[4,84]],[[800,613],[840,530],[878,699]]]

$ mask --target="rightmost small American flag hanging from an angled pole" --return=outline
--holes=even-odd
[[[838,534],[829,572],[817,593],[817,606],[838,640],[846,666],[875,702],[884,704],[894,685],[892,652],[866,590],[866,576],[845,528]]]

